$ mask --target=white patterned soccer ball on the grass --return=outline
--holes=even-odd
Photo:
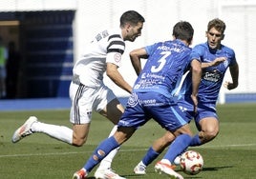
[[[203,169],[203,157],[198,151],[185,151],[181,154],[180,166],[186,174],[198,174]]]

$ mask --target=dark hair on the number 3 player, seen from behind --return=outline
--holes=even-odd
[[[194,29],[189,22],[180,21],[173,28],[173,36],[176,39],[187,41],[191,44],[194,35]]]

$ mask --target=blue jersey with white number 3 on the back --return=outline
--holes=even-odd
[[[154,91],[172,97],[189,66],[191,49],[181,40],[166,41],[145,47],[148,60],[134,85],[134,92]]]

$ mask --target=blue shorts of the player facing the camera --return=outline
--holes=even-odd
[[[178,106],[184,112],[186,122],[189,123],[194,119],[198,129],[200,129],[199,122],[203,118],[214,117],[216,120],[219,120],[216,112],[216,104],[199,102],[198,110],[195,114],[192,99],[190,96],[185,96],[178,101]]]

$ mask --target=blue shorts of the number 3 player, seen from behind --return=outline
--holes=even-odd
[[[184,113],[172,99],[157,92],[134,92],[117,125],[138,129],[151,118],[170,131],[187,124]]]

